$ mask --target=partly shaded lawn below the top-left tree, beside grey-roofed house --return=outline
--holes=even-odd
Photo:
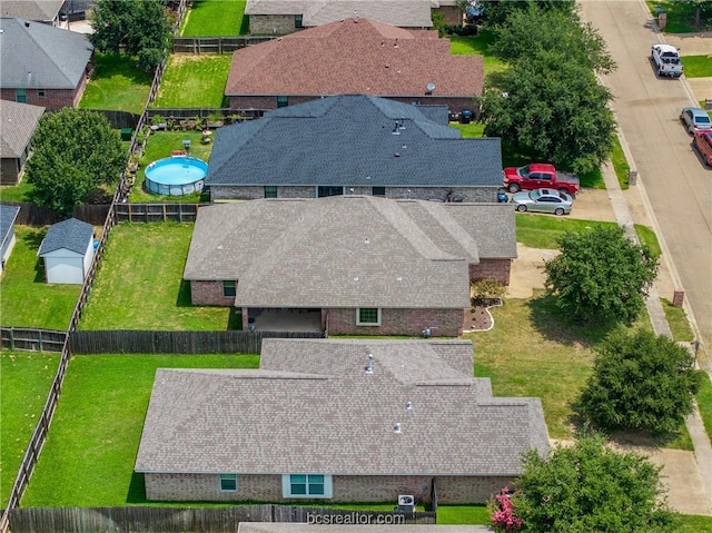
[[[154,77],[136,67],[126,56],[96,55],[91,75],[79,107],[112,109],[140,115],[148,100]]]

